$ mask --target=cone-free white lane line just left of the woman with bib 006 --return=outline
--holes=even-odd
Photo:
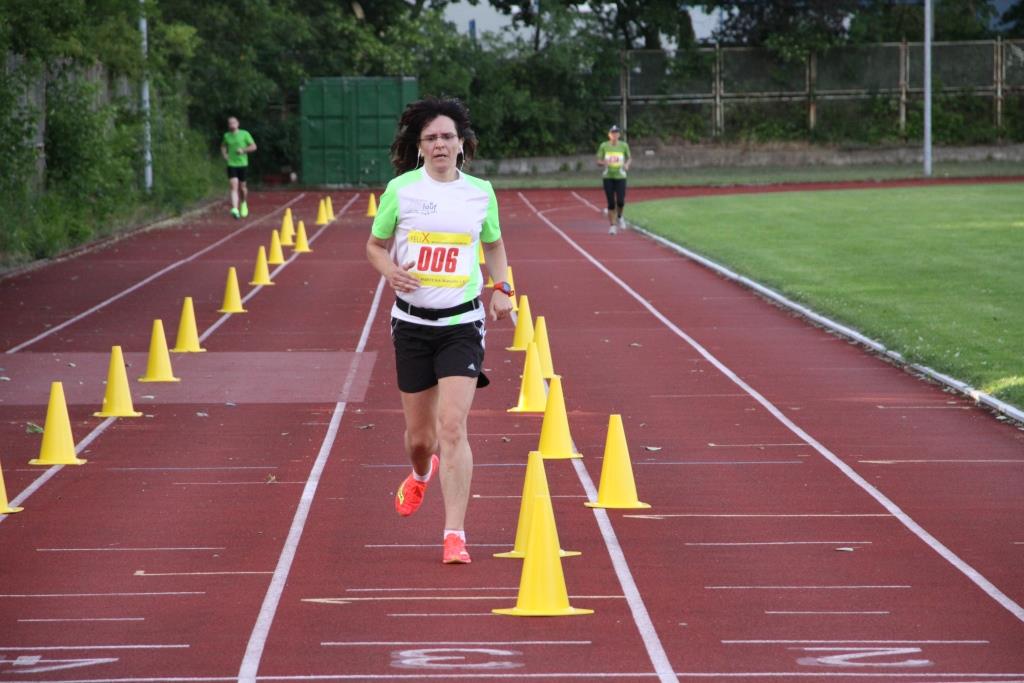
[[[377,283],[377,291],[374,293],[370,311],[367,313],[366,323],[362,325],[359,342],[355,346],[355,361],[349,366],[345,382],[342,384],[342,396],[348,395],[348,391],[355,381],[355,376],[359,368],[359,354],[367,348],[370,330],[374,318],[377,316],[381,295],[384,292],[384,279],[381,278]],[[319,453],[316,454],[316,460],[309,471],[309,478],[306,481],[306,485],[302,489],[302,498],[295,509],[295,516],[292,519],[291,527],[288,529],[288,538],[285,540],[285,545],[281,550],[278,566],[273,571],[273,577],[270,579],[270,586],[267,588],[266,595],[263,598],[263,604],[260,606],[259,616],[256,618],[252,634],[249,636],[249,643],[246,645],[246,653],[239,669],[239,681],[242,683],[253,683],[256,680],[259,663],[263,657],[263,649],[266,647],[266,638],[270,633],[270,625],[273,624],[274,614],[278,612],[278,604],[281,602],[281,595],[285,590],[285,584],[288,582],[288,574],[292,570],[292,562],[295,561],[295,553],[298,551],[299,541],[302,539],[302,531],[306,526],[306,519],[309,517],[309,508],[312,507],[313,498],[316,496],[316,488],[319,486],[321,476],[324,474],[324,468],[327,467],[328,458],[331,456],[331,449],[334,447],[335,439],[338,437],[341,418],[345,415],[345,408],[347,405],[348,401],[338,401],[335,403],[334,412],[331,414],[331,422],[327,434],[324,436]]]

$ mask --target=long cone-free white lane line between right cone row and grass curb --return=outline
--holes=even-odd
[[[725,375],[729,380],[733,382],[736,386],[741,388],[748,394],[751,395],[756,401],[761,403],[776,420],[782,423],[790,431],[796,434],[799,438],[803,439],[812,449],[817,451],[825,460],[830,462],[838,470],[847,476],[853,483],[859,486],[864,493],[873,498],[879,505],[888,510],[894,517],[899,519],[899,521],[910,530],[911,533],[916,536],[922,542],[924,542],[929,548],[934,550],[940,557],[942,557],[946,562],[951,564],[957,570],[959,570],[969,581],[974,583],[975,586],[984,591],[990,598],[992,598],[996,603],[1001,605],[1007,611],[1016,616],[1019,621],[1024,622],[1024,607],[1015,602],[1009,595],[1000,591],[995,584],[990,582],[988,579],[983,577],[981,572],[975,569],[973,566],[968,564],[964,559],[962,559],[954,552],[949,550],[944,546],[938,539],[928,532],[924,526],[915,522],[908,514],[903,512],[903,509],[896,505],[892,500],[889,499],[885,494],[874,487],[869,483],[864,477],[857,474],[856,471],[849,465],[847,465],[839,456],[834,454],[831,451],[826,449],[817,439],[807,433],[802,427],[797,425],[793,420],[786,417],[774,403],[765,398],[758,392],[754,387],[748,384],[743,379],[736,375],[732,370],[730,370],[725,364],[715,357],[708,349],[701,346],[695,339],[690,337],[688,334],[683,332],[679,326],[670,321],[665,314],[662,313],[657,308],[655,308],[649,301],[644,299],[638,292],[631,288],[623,279],[609,270],[603,263],[594,258],[587,250],[581,247],[575,241],[572,240],[564,230],[555,225],[548,219],[543,213],[534,208],[534,205],[523,196],[522,193],[518,193],[522,201],[534,210],[541,220],[548,224],[548,226],[555,231],[559,237],[561,237],[565,242],[569,244],[573,249],[575,249],[581,255],[583,255],[588,261],[590,261],[598,270],[606,274],[612,282],[618,285],[623,291],[632,296],[641,306],[650,311],[651,315],[656,317],[662,322],[669,330],[674,332],[676,336],[689,344],[695,351],[702,355],[709,362],[715,366],[719,372]],[[596,499],[595,499],[596,500]]]

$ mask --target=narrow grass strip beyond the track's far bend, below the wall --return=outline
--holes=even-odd
[[[480,169],[470,170],[479,172]],[[936,164],[933,174],[937,178],[965,178],[987,176],[1022,176],[1024,163],[1020,162],[957,162]],[[590,187],[600,185],[600,169],[596,166],[579,172],[544,175],[486,176],[499,189],[524,187]],[[723,168],[645,169],[643,160],[630,171],[631,187],[659,187],[678,185],[762,185],[777,182],[841,182],[844,180],[892,180],[922,177],[918,164],[862,165],[862,166],[762,166]]]

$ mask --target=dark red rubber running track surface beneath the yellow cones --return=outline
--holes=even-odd
[[[631,190],[633,201],[648,195],[655,190]],[[335,196],[336,210],[349,198]],[[280,224],[271,212],[292,199],[255,197],[250,221],[268,215],[263,223],[18,353],[54,362],[49,352],[115,343],[144,350],[153,317],[173,337],[185,295],[196,297],[203,331],[218,317],[226,266],[248,280],[257,245]],[[547,319],[572,436],[595,483],[607,416],[623,415],[640,499],[653,507],[608,516],[653,626],[647,644],[660,643],[674,672],[663,680],[1024,680],[1019,618],[526,201],[1017,604],[1022,432],[654,243],[607,236],[603,217],[569,191],[499,199],[516,284]],[[315,200],[306,196],[293,210],[310,219]],[[313,254],[218,329],[205,343],[210,352],[354,350],[378,282],[365,262],[365,206],[366,196],[357,198]],[[238,227],[209,214],[0,282],[4,348]],[[511,546],[541,424],[505,411],[522,362],[504,350],[509,324],[488,327],[484,365],[494,383],[478,392],[470,418],[473,564],[439,562],[436,482],[417,515],[394,514],[408,464],[389,307],[385,293],[365,348],[369,388],[342,407],[280,603],[263,610],[272,620],[264,622],[260,678],[656,680],[567,462],[546,464],[561,545],[583,552],[562,566],[571,602],[596,613],[489,614],[515,602],[520,562],[490,554]],[[174,360],[186,383],[187,359]],[[279,390],[288,385],[282,376]],[[133,382],[136,396],[140,386]],[[26,512],[0,523],[0,680],[238,678],[337,408],[247,396],[233,405],[146,405],[152,418],[116,422],[89,446],[88,465],[65,468]],[[71,407],[79,439],[99,423],[92,410]],[[25,424],[41,423],[43,411],[0,403],[0,418],[13,498],[41,471],[24,464],[39,443]],[[54,670],[57,660],[77,668]]]

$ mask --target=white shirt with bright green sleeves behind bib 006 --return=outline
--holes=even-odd
[[[421,308],[451,308],[480,296],[483,278],[477,250],[502,237],[498,199],[486,180],[459,171],[452,182],[434,180],[423,168],[402,173],[381,195],[373,234],[394,238],[396,263],[413,262],[410,272],[420,281],[401,298]],[[483,319],[480,306],[439,321],[410,315],[397,306],[391,315],[420,325],[446,326]]]

